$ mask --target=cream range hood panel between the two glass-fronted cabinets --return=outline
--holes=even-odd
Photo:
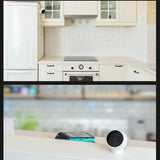
[[[64,17],[97,17],[97,1],[64,1]]]

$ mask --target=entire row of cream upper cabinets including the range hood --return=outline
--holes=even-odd
[[[64,26],[64,17],[95,17],[96,26],[136,26],[136,1],[41,1],[43,26]]]

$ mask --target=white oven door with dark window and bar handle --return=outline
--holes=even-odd
[[[63,72],[63,81],[70,81],[70,82],[99,81],[99,72]]]

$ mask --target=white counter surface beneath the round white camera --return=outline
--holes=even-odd
[[[16,131],[5,135],[5,160],[155,160],[156,143],[129,140],[123,154],[113,154],[104,137],[96,143],[54,139],[55,133]]]

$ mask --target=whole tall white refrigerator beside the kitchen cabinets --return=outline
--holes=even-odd
[[[4,81],[37,81],[43,27],[37,2],[4,2]]]

